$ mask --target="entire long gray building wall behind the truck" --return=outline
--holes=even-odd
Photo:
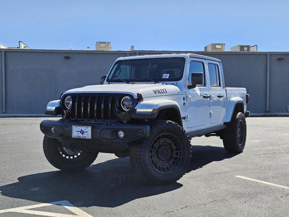
[[[265,52],[1,50],[5,51],[6,114],[43,114],[46,104],[58,99],[60,93],[99,84],[99,76],[108,73],[116,58],[157,53],[198,53],[221,59],[226,86],[247,88],[251,95],[248,110],[266,112],[268,53]],[[285,60],[277,60],[278,57]],[[3,114],[1,64],[2,61],[0,114]],[[287,110],[288,67],[288,53],[270,53],[270,112]],[[280,97],[282,93],[284,97]]]

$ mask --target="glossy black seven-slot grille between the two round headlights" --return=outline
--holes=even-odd
[[[71,120],[116,121],[116,103],[119,96],[83,94],[71,97]]]

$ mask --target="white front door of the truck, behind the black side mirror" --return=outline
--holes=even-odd
[[[203,84],[187,90],[187,127],[205,126],[210,117],[209,84],[205,70],[205,60],[192,58],[190,61],[188,84],[192,84],[192,73],[203,73]]]

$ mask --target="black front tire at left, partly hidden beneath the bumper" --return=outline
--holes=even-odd
[[[43,151],[52,166],[70,172],[81,171],[89,167],[98,155],[98,153],[84,151],[74,155],[68,154],[57,139],[47,136],[44,136],[43,139]]]

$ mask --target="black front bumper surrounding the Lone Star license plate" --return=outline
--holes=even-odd
[[[73,125],[90,126],[91,139],[72,138]],[[52,127],[54,127],[54,134],[51,132]],[[58,139],[63,147],[105,153],[127,152],[130,143],[146,139],[150,134],[150,126],[145,124],[71,120],[43,120],[40,123],[40,130],[46,136]],[[124,132],[123,138],[117,136],[119,130]]]

